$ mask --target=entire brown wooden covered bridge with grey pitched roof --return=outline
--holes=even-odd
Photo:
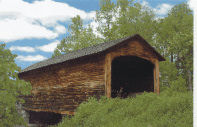
[[[35,120],[42,116],[36,112],[74,114],[90,96],[159,93],[159,61],[164,60],[134,35],[41,61],[19,73],[32,85],[24,108]]]

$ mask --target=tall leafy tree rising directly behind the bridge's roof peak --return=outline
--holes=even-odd
[[[133,0],[101,0],[101,3],[96,22],[98,32],[106,41],[138,33],[152,43],[157,23],[150,8]]]

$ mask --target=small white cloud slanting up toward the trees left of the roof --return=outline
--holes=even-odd
[[[47,45],[39,46],[39,47],[37,47],[37,49],[44,51],[44,52],[53,52],[59,43],[60,42],[58,40],[56,40],[56,41],[49,43]]]

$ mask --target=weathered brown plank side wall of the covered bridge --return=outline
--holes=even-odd
[[[90,96],[104,95],[104,57],[95,56],[35,70],[23,76],[32,84],[25,108],[73,114]]]

